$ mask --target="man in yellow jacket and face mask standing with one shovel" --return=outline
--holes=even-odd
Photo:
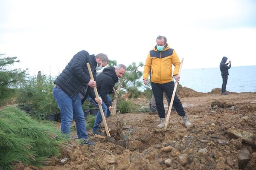
[[[174,71],[172,73],[172,65],[174,65]],[[167,44],[166,37],[158,36],[157,45],[154,49],[149,51],[148,57],[144,65],[143,72],[143,81],[145,85],[148,84],[148,74],[151,71],[151,88],[155,96],[158,115],[160,117],[160,124],[157,125],[159,128],[163,128],[165,124],[165,109],[163,106],[163,92],[166,92],[166,95],[169,99],[172,98],[172,93],[174,89],[174,82],[172,80],[172,75],[175,78],[176,82],[179,82],[179,68],[180,68],[180,59],[178,58],[174,49],[170,48]],[[189,127],[191,123],[186,116],[186,112],[183,109],[183,106],[175,94],[173,101],[173,106],[176,109],[177,113],[182,116],[181,123],[185,127]]]

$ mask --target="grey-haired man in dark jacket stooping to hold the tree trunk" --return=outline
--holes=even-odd
[[[111,98],[109,93],[113,91],[113,87],[118,82],[118,79],[121,78],[126,72],[126,66],[119,64],[112,68],[104,68],[102,73],[98,74],[96,77],[97,82],[97,91],[99,96],[102,98],[102,110],[104,114],[111,112]],[[100,130],[100,123],[102,122],[102,116],[100,111],[97,113],[95,122],[93,125],[93,134],[103,135]]]

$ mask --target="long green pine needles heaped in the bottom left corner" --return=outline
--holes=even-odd
[[[11,170],[17,163],[40,167],[49,157],[69,150],[68,137],[51,122],[39,122],[14,107],[0,111],[0,169]]]

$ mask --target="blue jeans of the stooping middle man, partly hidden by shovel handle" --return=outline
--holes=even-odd
[[[100,96],[100,95],[99,95]],[[111,98],[109,95],[107,95],[107,98],[108,98],[108,102],[112,102]],[[94,101],[93,101],[94,102]],[[94,102],[93,104],[95,105],[96,102]],[[97,104],[97,107],[99,108],[99,105]],[[107,105],[105,105],[105,103],[103,102],[102,100],[102,110],[103,110],[103,113],[109,117],[110,116],[110,111],[107,107]],[[95,118],[95,122],[94,122],[94,125],[93,125],[93,132],[96,131],[96,130],[99,130],[100,129],[100,123],[102,122],[102,116],[101,116],[101,113],[100,111],[98,111],[97,115],[96,115],[96,118]]]

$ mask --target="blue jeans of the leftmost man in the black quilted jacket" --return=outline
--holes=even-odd
[[[61,111],[61,133],[70,135],[70,125],[74,117],[78,138],[87,139],[88,134],[86,132],[84,113],[79,95],[76,94],[71,98],[61,88],[57,87],[54,87],[52,92]]]

